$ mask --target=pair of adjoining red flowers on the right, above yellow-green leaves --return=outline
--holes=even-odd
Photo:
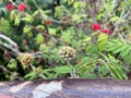
[[[93,30],[100,30],[100,32],[103,32],[103,33],[105,33],[105,34],[111,34],[111,30],[110,30],[109,28],[104,28],[104,29],[102,29],[102,26],[100,26],[100,24],[98,24],[98,23],[94,23],[94,24],[92,25],[92,29],[93,29]]]

